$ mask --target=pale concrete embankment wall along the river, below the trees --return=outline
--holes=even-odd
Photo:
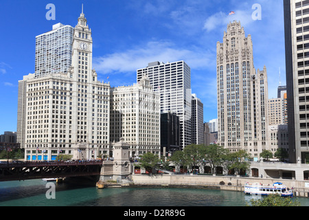
[[[257,177],[234,177],[214,175],[132,175],[130,183],[101,183],[104,187],[185,187],[185,188],[211,188],[218,190],[244,191],[246,183],[260,183],[271,185],[277,181],[288,188],[294,189],[294,195],[308,197],[308,181],[295,181],[293,179],[270,179]],[[307,183],[307,184],[306,184]],[[102,185],[101,185],[102,186]],[[103,187],[101,187],[103,188]]]

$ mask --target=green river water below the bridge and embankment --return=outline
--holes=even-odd
[[[49,183],[42,179],[0,182],[0,206],[247,206],[244,192],[194,188],[104,188],[92,181]],[[301,206],[309,199],[294,197]]]

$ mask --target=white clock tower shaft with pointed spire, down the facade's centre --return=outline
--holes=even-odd
[[[83,8],[78,24],[74,28],[72,43],[72,64],[70,78],[73,80],[73,88],[71,102],[73,107],[70,109],[72,120],[72,137],[73,142],[81,143],[89,149],[91,140],[91,112],[92,100],[92,37],[91,29],[87,25],[87,19],[84,16]],[[88,152],[88,151],[87,151]],[[87,153],[88,154],[88,153]],[[87,155],[86,155],[87,156]]]

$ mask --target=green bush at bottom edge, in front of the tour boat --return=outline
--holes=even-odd
[[[301,206],[301,204],[299,201],[293,201],[290,197],[273,194],[262,199],[251,199],[247,206]]]

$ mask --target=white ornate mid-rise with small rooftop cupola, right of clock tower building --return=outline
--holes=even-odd
[[[111,88],[111,142],[130,145],[130,157],[160,156],[160,101],[145,75],[137,85]]]

